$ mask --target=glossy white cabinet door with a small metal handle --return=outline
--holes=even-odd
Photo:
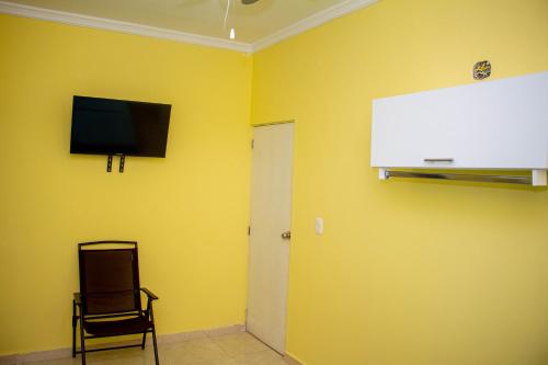
[[[548,167],[548,72],[380,99],[373,110],[374,167]]]

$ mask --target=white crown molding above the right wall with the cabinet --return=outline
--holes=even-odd
[[[308,30],[317,27],[323,23],[332,21],[336,18],[344,16],[350,14],[353,11],[359,10],[362,8],[366,8],[373,5],[379,0],[347,0],[341,2],[336,5],[328,8],[323,11],[320,11],[313,15],[302,19],[295,24],[292,24],[274,34],[265,36],[264,38],[253,43],[252,52],[258,52],[270,47],[278,42],[282,42],[286,38],[293,37],[299,33],[304,33]]]

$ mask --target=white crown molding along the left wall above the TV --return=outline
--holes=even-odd
[[[209,47],[225,48],[243,53],[251,53],[250,44],[233,42],[222,38],[208,37],[204,35],[184,33],[180,31],[165,30],[149,25],[121,22],[111,19],[95,18],[65,11],[49,10],[44,8],[22,5],[19,3],[0,1],[0,13],[47,20],[58,23],[95,27],[100,30],[115,31],[135,35],[144,35],[155,38],[171,39],[183,43],[198,44]]]

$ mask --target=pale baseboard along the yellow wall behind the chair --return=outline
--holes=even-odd
[[[183,342],[193,339],[201,339],[206,337],[216,337],[221,334],[244,332],[246,326],[243,324],[233,324],[221,328],[214,328],[207,330],[198,330],[198,331],[190,331],[190,332],[180,332],[180,333],[168,333],[168,334],[159,334],[158,343],[167,344],[167,343],[175,343]],[[151,341],[150,335],[148,337],[149,341]],[[140,340],[127,340],[115,343],[109,343],[109,346],[113,345],[127,345],[127,344],[138,344]],[[150,342],[148,342],[150,344]],[[79,345],[79,344],[78,344]],[[88,347],[88,346],[85,346]],[[98,349],[100,345],[90,345],[90,349]],[[72,349],[57,349],[57,350],[48,350],[48,351],[38,351],[31,352],[26,354],[13,354],[13,355],[3,355],[0,356],[0,365],[20,365],[24,362],[35,362],[35,361],[44,361],[44,360],[56,360],[56,358],[68,358],[72,356]]]

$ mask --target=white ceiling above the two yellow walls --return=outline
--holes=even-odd
[[[230,10],[227,26],[224,18]],[[114,20],[185,34],[222,39],[236,28],[236,42],[252,45],[305,22],[319,23],[363,8],[375,0],[259,0],[244,5],[241,0],[10,0],[47,10]],[[3,4],[9,4],[3,2]],[[0,5],[2,2],[0,1]],[[2,9],[0,8],[0,12]],[[9,12],[9,11],[4,11]],[[332,13],[332,16],[329,16]],[[23,14],[24,15],[24,14]],[[321,20],[316,21],[315,16]],[[32,16],[32,15],[31,15]],[[35,16],[41,18],[41,16]],[[46,16],[44,16],[46,18]],[[311,26],[308,26],[311,27]],[[301,26],[302,27],[302,26]],[[294,32],[298,33],[298,32]],[[199,43],[199,42],[198,42]]]

